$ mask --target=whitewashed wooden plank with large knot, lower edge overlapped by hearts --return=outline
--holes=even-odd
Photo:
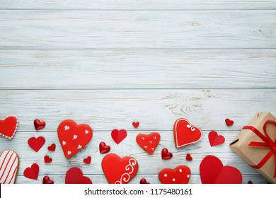
[[[218,82],[219,83],[219,82]],[[267,90],[1,90],[0,117],[16,115],[19,131],[33,131],[36,118],[55,131],[62,120],[90,124],[95,131],[171,130],[186,117],[204,130],[240,130],[257,113],[276,115],[275,89]],[[234,120],[227,127],[226,118]]]

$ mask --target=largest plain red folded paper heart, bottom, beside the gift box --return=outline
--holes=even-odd
[[[241,172],[232,166],[223,165],[215,156],[206,156],[200,163],[202,184],[241,184]]]

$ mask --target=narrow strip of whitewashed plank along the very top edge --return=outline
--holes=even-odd
[[[71,10],[236,10],[236,9],[275,9],[275,0],[67,0],[33,1],[1,0],[1,9],[71,9]]]

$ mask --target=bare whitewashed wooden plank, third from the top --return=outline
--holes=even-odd
[[[276,88],[271,49],[0,50],[0,59],[6,89]]]

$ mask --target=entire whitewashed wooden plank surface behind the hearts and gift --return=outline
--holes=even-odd
[[[256,112],[276,115],[276,1],[0,0],[0,82],[0,119],[19,119],[16,136],[0,138],[1,151],[20,157],[16,183],[42,183],[45,175],[64,183],[74,166],[93,183],[106,183],[100,141],[110,153],[137,159],[131,183],[143,177],[159,183],[159,171],[177,165],[188,165],[190,183],[201,183],[199,165],[207,155],[241,170],[243,183],[267,183],[229,143]],[[180,117],[204,134],[176,149],[173,123]],[[39,132],[37,118],[46,122]],[[234,125],[227,127],[226,118]],[[57,138],[65,119],[93,129],[88,146],[70,159]],[[119,145],[113,129],[128,132]],[[209,146],[211,130],[225,143]],[[161,134],[153,155],[135,141],[150,132]],[[46,139],[38,153],[27,144],[32,136]],[[56,151],[47,151],[52,143]],[[173,153],[168,161],[161,159],[165,147]],[[44,163],[45,155],[52,163]],[[90,165],[83,162],[87,156]],[[38,180],[23,176],[33,163],[40,165]]]

